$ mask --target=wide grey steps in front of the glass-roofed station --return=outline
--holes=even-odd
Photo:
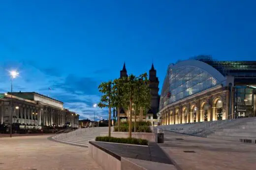
[[[165,125],[157,128],[198,137],[256,143],[256,117]]]

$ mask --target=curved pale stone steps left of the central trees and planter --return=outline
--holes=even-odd
[[[80,128],[67,130],[52,137],[57,142],[88,147],[89,141],[95,140],[100,134],[107,134],[108,127]]]

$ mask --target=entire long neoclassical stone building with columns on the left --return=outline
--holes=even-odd
[[[78,127],[79,115],[64,109],[63,102],[36,92],[0,94],[0,123],[28,126]]]

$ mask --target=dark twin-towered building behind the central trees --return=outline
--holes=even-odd
[[[123,69],[120,71],[120,78],[128,77],[126,64],[124,63]],[[157,123],[157,113],[159,111],[159,101],[160,95],[159,92],[159,80],[157,77],[157,70],[152,64],[151,69],[149,70],[149,88],[151,90],[151,108],[146,110],[146,114],[143,115],[143,119],[146,121],[151,121],[152,124]],[[117,116],[117,111],[114,113]],[[121,121],[127,121],[128,119],[128,110],[121,108],[120,110],[120,119]],[[139,116],[137,115],[137,119]],[[132,116],[132,121],[134,121],[134,116]]]

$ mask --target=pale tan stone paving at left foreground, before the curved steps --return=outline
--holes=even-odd
[[[88,148],[48,137],[0,138],[0,170],[102,170]]]

